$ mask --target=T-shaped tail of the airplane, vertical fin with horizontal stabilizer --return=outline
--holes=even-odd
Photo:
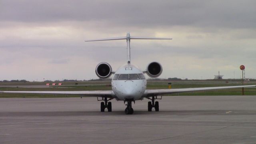
[[[130,66],[130,64],[131,64],[131,51],[130,51],[130,49],[131,49],[130,48],[131,39],[138,39],[138,40],[172,40],[172,38],[152,38],[152,37],[130,36],[130,32],[127,32],[126,36],[122,36],[122,37],[85,40],[85,42],[103,41],[103,40],[126,40],[126,43],[127,43],[127,64]]]

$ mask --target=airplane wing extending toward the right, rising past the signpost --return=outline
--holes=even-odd
[[[255,87],[256,85],[247,85],[247,86],[218,86],[218,87],[207,87],[207,88],[177,88],[177,89],[156,89],[156,90],[146,90],[143,97],[151,96],[162,96],[163,94],[174,94],[180,92],[195,92],[195,91],[204,91],[204,90],[221,90],[229,88],[247,88]]]

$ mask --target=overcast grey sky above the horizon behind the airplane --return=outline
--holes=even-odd
[[[160,78],[256,78],[255,0],[0,0],[0,80],[89,80],[95,67],[160,62]]]

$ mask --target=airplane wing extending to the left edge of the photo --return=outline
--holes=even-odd
[[[2,93],[22,93],[22,94],[68,94],[82,95],[92,97],[116,98],[112,90],[95,90],[95,91],[0,91]]]

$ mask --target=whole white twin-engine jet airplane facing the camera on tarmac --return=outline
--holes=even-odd
[[[68,95],[83,95],[97,97],[100,103],[100,111],[104,112],[107,108],[108,112],[112,112],[112,103],[110,100],[116,99],[124,101],[126,108],[125,114],[133,114],[132,102],[136,100],[149,99],[148,111],[151,112],[152,108],[155,111],[159,111],[159,102],[156,100],[162,99],[164,94],[174,94],[180,92],[194,92],[205,90],[219,90],[228,88],[247,88],[255,87],[256,85],[247,86],[220,86],[220,87],[206,87],[206,88],[178,88],[178,89],[146,89],[147,80],[144,74],[147,74],[150,78],[156,78],[162,74],[163,68],[159,62],[150,62],[146,66],[146,70],[142,71],[138,67],[131,64],[130,54],[130,40],[172,40],[172,38],[151,38],[151,37],[138,37],[130,36],[128,32],[126,36],[116,38],[103,38],[96,40],[85,40],[85,42],[91,41],[104,41],[104,40],[126,40],[127,43],[127,61],[126,64],[118,68],[116,71],[112,71],[112,67],[107,62],[100,62],[95,69],[96,75],[99,78],[106,79],[111,75],[114,75],[111,84],[112,90],[96,90],[96,91],[0,91],[2,93],[32,93],[32,94],[68,94]],[[161,98],[160,98],[161,96]],[[99,99],[100,98],[100,99]]]

